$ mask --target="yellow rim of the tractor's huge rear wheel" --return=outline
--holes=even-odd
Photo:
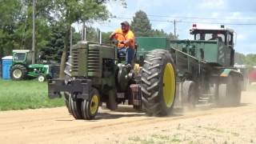
[[[163,98],[166,102],[166,106],[170,107],[174,103],[174,95],[175,95],[175,74],[174,74],[174,66],[171,63],[166,64],[166,68],[163,74]]]

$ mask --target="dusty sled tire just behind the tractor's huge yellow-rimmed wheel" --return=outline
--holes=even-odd
[[[185,81],[182,83],[182,103],[184,106],[194,108],[198,102],[196,95],[196,87],[193,81]]]

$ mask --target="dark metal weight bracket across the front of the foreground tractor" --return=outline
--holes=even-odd
[[[61,92],[69,92],[76,94],[77,98],[89,99],[91,91],[90,79],[75,79],[65,83],[64,79],[50,79],[48,82],[48,96],[49,98],[61,98]]]

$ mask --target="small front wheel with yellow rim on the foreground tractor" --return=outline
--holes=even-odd
[[[90,99],[82,100],[82,118],[92,120],[98,114],[98,107],[100,105],[100,96],[98,90],[93,89],[90,94]]]

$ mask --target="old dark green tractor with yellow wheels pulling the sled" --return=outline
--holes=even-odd
[[[142,110],[145,102],[149,115],[171,112],[176,83],[174,62],[168,51],[152,51],[143,68],[136,62],[133,66],[124,65],[125,55],[118,55],[113,45],[83,41],[72,46],[71,51],[65,79],[50,79],[48,90],[50,98],[59,98],[63,92],[74,118],[94,119],[103,102],[110,110],[128,101],[136,110]],[[146,86],[141,85],[142,81]]]

